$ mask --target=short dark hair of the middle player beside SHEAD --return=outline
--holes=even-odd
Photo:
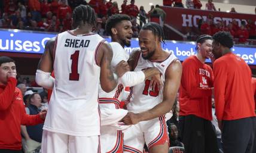
[[[108,20],[106,20],[106,27],[105,27],[106,32],[109,35],[112,35],[111,29],[113,27],[115,27],[117,25],[117,23],[120,23],[123,20],[130,21],[129,15],[126,15],[126,14],[114,14],[114,15],[111,15],[111,17],[109,17]]]

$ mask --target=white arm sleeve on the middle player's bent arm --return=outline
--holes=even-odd
[[[144,80],[145,74],[143,71],[127,71],[122,77],[120,77],[120,82],[124,86],[135,86],[144,82]]]

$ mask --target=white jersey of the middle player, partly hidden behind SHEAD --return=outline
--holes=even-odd
[[[128,52],[124,51],[124,48],[117,42],[109,43],[112,51],[113,51],[113,58],[111,61],[111,68],[112,71],[115,70],[115,66],[120,63],[120,61],[124,60],[127,61],[129,59]],[[120,101],[122,99],[124,86],[118,81],[117,87],[109,93],[106,93],[99,88],[99,103],[100,103],[100,110],[104,108],[119,108]],[[109,104],[109,105],[106,105]]]

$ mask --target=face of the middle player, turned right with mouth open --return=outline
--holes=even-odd
[[[129,47],[132,39],[132,23],[129,20],[123,20],[115,26],[117,38],[123,45]]]

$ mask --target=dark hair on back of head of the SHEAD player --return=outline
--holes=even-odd
[[[89,5],[79,5],[75,7],[72,18],[74,21],[74,27],[80,25],[81,21],[83,23],[89,23],[92,26],[96,27],[96,14],[95,10]]]

